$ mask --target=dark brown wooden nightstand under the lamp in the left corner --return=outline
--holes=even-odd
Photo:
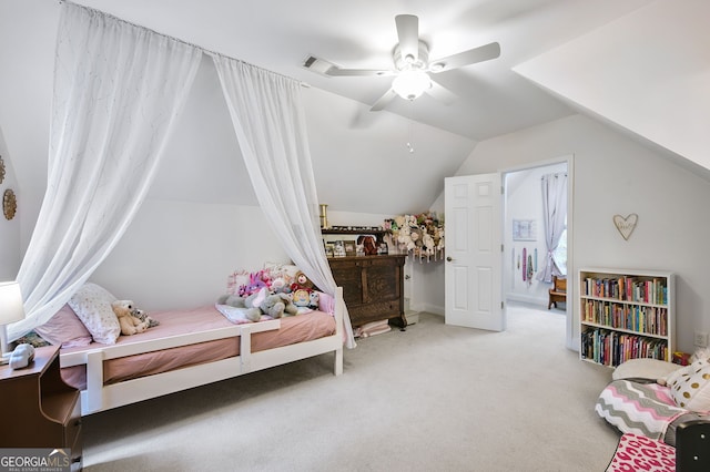
[[[59,347],[36,349],[23,369],[0,366],[0,404],[3,448],[71,449],[71,470],[81,470],[81,400],[61,378]]]

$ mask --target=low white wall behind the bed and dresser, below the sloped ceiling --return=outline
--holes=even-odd
[[[335,225],[382,225],[386,215],[328,212]],[[211,304],[235,269],[287,263],[257,206],[148,199],[91,277],[149,310]]]

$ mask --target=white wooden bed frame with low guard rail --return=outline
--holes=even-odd
[[[105,346],[83,352],[62,353],[60,355],[60,363],[61,367],[87,366],[87,389],[81,391],[82,415],[243,376],[326,352],[335,353],[334,373],[335,376],[339,376],[343,373],[344,310],[343,288],[338,287],[335,294],[336,329],[333,336],[258,352],[252,352],[252,334],[278,329],[281,327],[280,319],[235,325],[227,328],[172,336],[125,346]],[[239,338],[240,356],[109,386],[103,384],[104,360],[222,338]]]

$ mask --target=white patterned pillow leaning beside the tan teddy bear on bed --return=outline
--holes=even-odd
[[[69,300],[69,306],[97,342],[114,345],[121,335],[119,318],[111,308],[115,299],[105,288],[88,283]]]

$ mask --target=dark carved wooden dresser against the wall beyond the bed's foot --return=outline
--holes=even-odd
[[[354,327],[389,319],[400,328],[404,315],[405,255],[328,258],[333,277],[343,287],[343,298]]]

